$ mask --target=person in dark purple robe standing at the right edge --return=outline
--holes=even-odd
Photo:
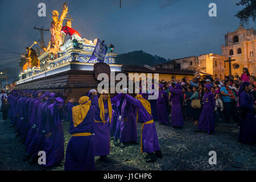
[[[240,96],[240,106],[245,110],[241,117],[239,141],[242,143],[256,143],[256,118],[253,108],[254,100],[251,93],[242,91]]]

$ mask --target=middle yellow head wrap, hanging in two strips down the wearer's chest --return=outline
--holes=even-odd
[[[105,109],[104,109],[104,103],[103,103],[103,99],[102,99],[102,94],[104,94],[104,93],[108,94],[108,112],[109,112],[109,122],[110,123],[111,123],[111,119],[112,119],[112,104],[111,104],[111,100],[110,100],[108,91],[102,90],[101,96],[100,96],[100,98],[98,98],[98,106],[100,107],[101,121],[104,122],[104,124],[105,124],[105,119],[108,119],[108,118],[105,118]]]

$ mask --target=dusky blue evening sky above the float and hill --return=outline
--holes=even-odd
[[[40,2],[46,3],[46,17],[38,16]],[[49,28],[52,11],[61,14],[64,2],[82,38],[105,40],[117,53],[143,50],[166,59],[221,54],[224,36],[238,28],[240,20],[234,15],[242,9],[236,6],[239,0],[122,0],[121,9],[119,0],[0,0],[0,48],[24,52],[40,39],[34,26]],[[217,17],[208,15],[212,2]],[[245,28],[251,27],[256,29],[254,22]],[[50,36],[44,32],[46,45]],[[15,60],[1,60],[0,68],[15,67]]]

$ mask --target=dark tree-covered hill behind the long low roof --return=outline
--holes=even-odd
[[[170,60],[170,59],[168,59]],[[167,60],[160,56],[153,56],[143,51],[133,51],[117,55],[115,63],[128,65],[155,65],[166,63]]]

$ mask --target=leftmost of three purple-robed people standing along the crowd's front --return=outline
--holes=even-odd
[[[158,100],[156,101],[156,106],[158,110],[158,121],[159,123],[168,124],[168,94],[163,90],[163,85],[159,84],[159,87],[162,89],[159,91]]]

